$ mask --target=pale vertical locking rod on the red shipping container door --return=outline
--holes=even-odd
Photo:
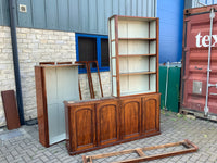
[[[209,45],[208,45],[208,66],[207,66],[207,79],[206,79],[206,103],[204,108],[204,113],[208,114],[208,88],[209,88],[209,73],[210,73],[210,52],[212,52],[212,35],[213,35],[213,20],[215,17],[214,9],[210,10],[210,30],[209,30]]]

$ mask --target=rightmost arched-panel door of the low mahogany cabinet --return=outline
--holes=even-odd
[[[152,135],[159,131],[159,95],[142,98],[142,133]]]

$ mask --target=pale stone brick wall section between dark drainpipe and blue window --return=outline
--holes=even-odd
[[[34,66],[39,62],[75,61],[75,34],[17,28],[25,120],[37,117]]]

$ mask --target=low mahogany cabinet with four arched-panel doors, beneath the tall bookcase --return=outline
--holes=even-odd
[[[72,155],[161,134],[159,93],[64,103]]]

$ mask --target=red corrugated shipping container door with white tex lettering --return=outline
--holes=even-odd
[[[187,17],[183,43],[181,106],[204,112],[208,65],[210,13]],[[210,58],[210,84],[217,83],[217,14],[214,18]],[[209,87],[209,113],[217,114],[217,88]]]

